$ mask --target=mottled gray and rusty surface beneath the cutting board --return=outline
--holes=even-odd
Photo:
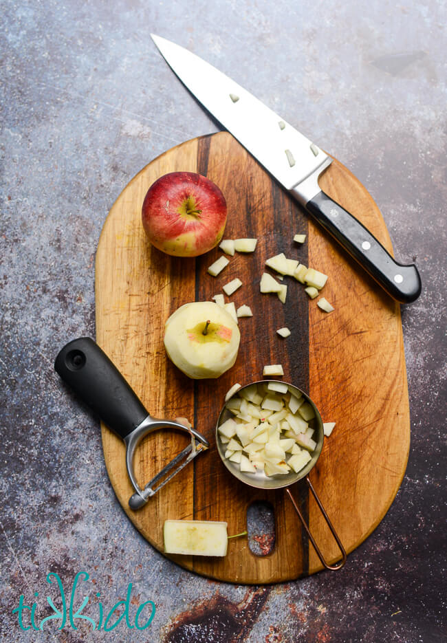
[[[3,0],[2,14],[1,640],[446,640],[445,3]],[[53,371],[67,340],[94,336],[94,253],[113,201],[153,157],[216,131],[150,32],[345,163],[380,206],[397,259],[415,257],[422,274],[422,296],[402,311],[408,469],[338,574],[248,588],[173,565],[124,516],[98,426]],[[69,593],[81,570],[86,613],[98,614],[96,592],[110,609],[132,582],[133,611],[156,604],[149,629],[21,631],[20,594],[40,622],[47,573]]]

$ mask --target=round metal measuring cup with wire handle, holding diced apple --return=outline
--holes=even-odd
[[[252,384],[268,384],[268,382],[277,382],[278,380],[259,380],[257,382],[250,382],[250,384],[246,384],[246,386],[242,386],[240,389],[235,391],[231,397],[235,397],[243,391],[243,389],[246,389],[248,386],[252,386]],[[327,512],[325,511],[325,508],[323,507],[323,504],[321,503],[320,499],[318,498],[318,494],[316,493],[316,490],[314,489],[314,486],[312,485],[312,482],[309,480],[309,472],[314,468],[316,465],[318,458],[320,457],[321,450],[323,449],[323,441],[324,441],[324,431],[323,431],[323,420],[321,419],[320,413],[318,411],[318,408],[316,408],[314,402],[310,399],[309,395],[307,395],[304,391],[301,389],[298,389],[297,386],[294,386],[293,384],[289,384],[288,382],[284,382],[287,384],[287,389],[289,391],[294,391],[295,393],[301,393],[303,395],[304,399],[306,402],[312,406],[315,414],[315,418],[313,420],[314,426],[314,439],[316,441],[316,448],[314,449],[313,453],[311,454],[312,458],[309,460],[307,465],[303,467],[298,473],[295,473],[294,471],[283,474],[283,475],[274,475],[274,476],[267,476],[263,471],[257,471],[256,473],[246,473],[246,472],[241,472],[239,466],[230,460],[228,460],[225,457],[225,452],[226,452],[226,444],[223,444],[221,442],[221,439],[219,437],[219,426],[223,424],[223,422],[226,421],[229,417],[232,417],[232,413],[228,411],[228,408],[226,407],[226,403],[228,400],[226,400],[226,403],[223,405],[223,408],[221,409],[221,412],[219,413],[219,417],[217,419],[217,424],[216,424],[216,445],[217,445],[217,452],[219,453],[219,456],[221,457],[221,460],[223,464],[226,466],[228,471],[234,475],[238,480],[241,482],[250,485],[250,487],[254,487],[257,489],[265,489],[265,490],[272,490],[272,489],[284,489],[285,492],[287,493],[288,497],[290,498],[290,501],[292,502],[292,505],[294,506],[294,510],[298,514],[299,519],[301,520],[301,523],[303,524],[303,527],[305,529],[305,532],[307,533],[307,536],[309,537],[309,541],[312,543],[314,546],[314,549],[316,551],[316,554],[318,558],[320,558],[321,563],[326,569],[331,569],[332,571],[335,571],[336,569],[340,569],[343,565],[346,563],[346,552],[345,548],[343,547],[340,538],[338,537],[338,534],[336,533],[336,530],[334,529],[334,526],[332,525],[331,521],[329,520],[329,516],[327,515]],[[229,400],[231,399],[229,398]],[[334,536],[336,543],[338,545],[338,548],[340,549],[340,552],[342,554],[342,559],[340,560],[339,563],[336,563],[336,565],[329,565],[323,554],[320,552],[320,548],[316,544],[316,541],[314,539],[314,536],[312,536],[310,530],[309,530],[309,525],[305,521],[305,518],[298,507],[298,504],[296,503],[294,497],[292,496],[292,492],[290,491],[290,486],[292,486],[294,483],[298,482],[298,480],[305,479],[307,486],[309,487],[310,491],[312,492],[312,495],[314,499],[316,500],[316,503],[318,505],[318,508],[320,509],[320,512],[323,514],[323,517],[329,527],[329,530],[331,530],[331,534]]]

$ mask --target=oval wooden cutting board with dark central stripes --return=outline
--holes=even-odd
[[[141,206],[146,190],[172,171],[192,171],[217,183],[228,204],[225,237],[257,237],[253,254],[235,254],[214,278],[208,266],[215,248],[197,259],[168,257],[144,236]],[[320,186],[353,213],[392,252],[384,220],[365,188],[334,160]],[[296,233],[307,235],[303,246]],[[325,314],[303,286],[285,277],[287,301],[261,294],[265,259],[284,252],[329,275],[323,294],[335,311]],[[164,323],[180,305],[209,300],[238,276],[243,286],[230,298],[250,305],[239,320],[241,348],[235,367],[217,380],[193,381],[166,358]],[[228,298],[226,298],[228,301]],[[276,329],[292,334],[282,339]],[[276,543],[255,556],[246,538],[228,543],[225,558],[170,556],[204,576],[237,583],[295,579],[321,569],[284,491],[263,492],[234,479],[215,448],[215,422],[235,382],[262,378],[264,364],[283,364],[284,381],[307,391],[323,422],[336,422],[310,479],[348,552],[377,527],[400,486],[410,444],[408,391],[400,306],[314,224],[252,157],[226,132],[178,145],[153,160],[124,188],[111,208],[96,254],[98,344],[122,371],[155,417],[188,417],[210,441],[199,455],[141,510],[132,512],[124,444],[102,426],[107,471],[122,508],[141,534],[163,552],[166,519],[228,522],[228,534],[246,529],[247,508],[267,500],[275,512]],[[135,455],[141,486],[186,446],[181,433],[147,437]],[[327,560],[338,550],[305,485],[292,487]],[[349,565],[349,559],[348,563]]]

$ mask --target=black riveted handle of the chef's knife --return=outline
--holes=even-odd
[[[324,192],[314,195],[305,208],[391,297],[400,303],[419,297],[422,284],[416,266],[397,263],[358,219]]]

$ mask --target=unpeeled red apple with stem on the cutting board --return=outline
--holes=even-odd
[[[197,257],[217,246],[226,218],[221,190],[193,172],[165,174],[144,197],[142,222],[149,241],[175,257]]]

